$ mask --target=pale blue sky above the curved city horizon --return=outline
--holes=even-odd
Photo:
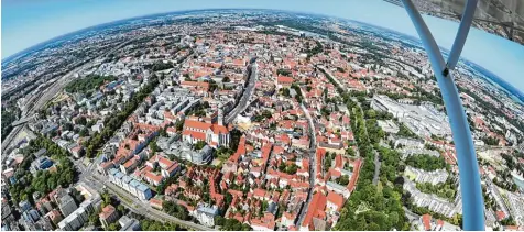
[[[181,10],[276,9],[356,20],[418,37],[403,8],[382,0],[2,0],[2,59],[53,37],[116,20]],[[450,48],[458,23],[424,16],[435,40]],[[524,46],[471,29],[462,57],[524,91]]]

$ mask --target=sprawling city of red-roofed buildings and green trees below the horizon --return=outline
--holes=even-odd
[[[56,37],[1,74],[2,231],[462,230],[468,196],[417,37],[178,11]],[[524,95],[468,59],[454,78],[485,229],[523,231]]]

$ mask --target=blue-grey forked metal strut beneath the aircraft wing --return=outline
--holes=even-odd
[[[435,38],[413,2],[411,0],[402,0],[402,2],[427,52],[433,71],[437,78],[438,87],[443,95],[446,112],[449,117],[458,157],[463,230],[483,231],[484,202],[482,188],[480,186],[479,165],[462,102],[451,76],[451,70],[457,65],[463,44],[466,43],[477,7],[477,0],[468,0],[467,2],[447,65]]]

